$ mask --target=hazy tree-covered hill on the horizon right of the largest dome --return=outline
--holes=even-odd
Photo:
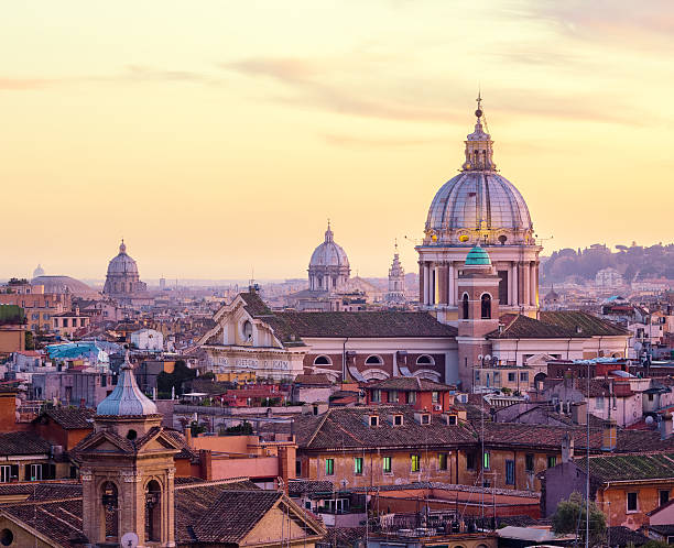
[[[674,280],[674,243],[650,248],[632,243],[629,248],[616,245],[616,249],[611,252],[606,245],[595,244],[584,250],[555,251],[542,259],[543,282],[561,283],[569,276],[593,280],[597,272],[607,267],[616,268],[628,283],[662,277]]]

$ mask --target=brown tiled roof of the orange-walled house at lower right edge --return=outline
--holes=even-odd
[[[601,482],[674,479],[674,452],[590,457],[590,476]],[[587,458],[576,460],[587,470]]]

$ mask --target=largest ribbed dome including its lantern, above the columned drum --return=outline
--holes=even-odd
[[[493,141],[478,107],[475,131],[466,139],[461,173],[433,198],[425,244],[533,244],[533,224],[520,191],[497,172]]]

